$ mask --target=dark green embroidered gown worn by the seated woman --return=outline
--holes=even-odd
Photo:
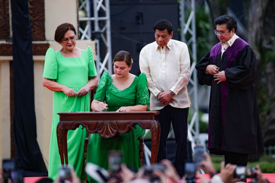
[[[118,90],[112,84],[111,75],[105,71],[100,79],[94,99],[106,100],[108,108],[106,111],[116,111],[121,106],[135,106],[138,104],[149,104],[149,94],[146,75],[135,76],[133,83],[124,90]],[[123,162],[127,166],[136,170],[141,166],[139,157],[138,138],[145,134],[145,130],[136,125],[131,132],[119,134],[113,138],[102,138],[98,134],[93,134],[87,149],[87,162],[92,162],[105,169],[108,168],[109,150],[121,150],[123,153]],[[88,178],[89,182],[93,182]]]

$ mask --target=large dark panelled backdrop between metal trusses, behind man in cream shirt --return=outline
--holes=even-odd
[[[112,0],[110,15],[112,58],[118,51],[129,51],[134,60],[132,74],[140,74],[140,50],[155,41],[153,27],[157,21],[170,21],[173,25],[173,39],[180,40],[177,0]]]

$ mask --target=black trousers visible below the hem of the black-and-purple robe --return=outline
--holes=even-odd
[[[248,154],[226,151],[224,154],[224,164],[236,164],[238,166],[247,166]]]

